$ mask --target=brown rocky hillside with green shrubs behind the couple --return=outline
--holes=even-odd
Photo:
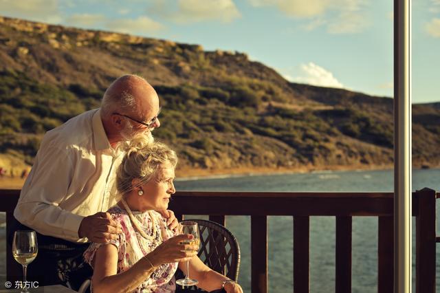
[[[0,153],[32,164],[45,131],[98,107],[114,78],[157,89],[155,136],[181,169],[371,168],[393,163],[393,100],[289,83],[239,52],[0,17]],[[413,109],[413,161],[440,164],[440,107]]]

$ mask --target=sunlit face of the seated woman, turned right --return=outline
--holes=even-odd
[[[166,210],[170,197],[176,190],[173,180],[175,178],[174,167],[170,163],[162,164],[156,175],[142,186],[144,195],[142,200],[153,210]]]

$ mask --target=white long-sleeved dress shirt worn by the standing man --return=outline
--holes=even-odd
[[[123,158],[102,126],[100,110],[47,131],[21,189],[14,217],[43,235],[79,239],[85,216],[115,204],[115,173]]]

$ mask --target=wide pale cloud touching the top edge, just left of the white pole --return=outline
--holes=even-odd
[[[370,25],[369,0],[248,0],[254,7],[274,6],[288,17],[307,19],[305,30],[325,25],[331,34],[362,32]]]

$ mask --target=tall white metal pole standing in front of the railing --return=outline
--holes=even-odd
[[[411,292],[411,0],[394,1],[394,292]]]

